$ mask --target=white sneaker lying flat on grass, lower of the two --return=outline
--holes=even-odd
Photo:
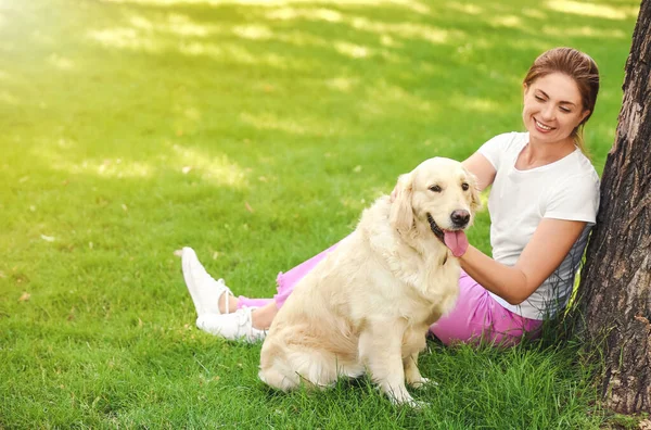
[[[264,340],[267,330],[253,327],[251,312],[256,307],[242,307],[232,314],[204,314],[196,318],[196,327],[210,334],[220,336],[229,340],[257,342]]]

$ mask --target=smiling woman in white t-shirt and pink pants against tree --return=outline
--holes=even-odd
[[[455,309],[430,330],[444,343],[515,344],[567,303],[599,207],[599,177],[585,154],[583,127],[599,92],[597,64],[557,48],[539,55],[523,81],[527,132],[496,136],[463,165],[488,199],[493,258],[474,246],[459,257]],[[336,245],[278,276],[273,299],[235,298],[183,249],[183,276],[196,325],[227,339],[265,336],[296,282]]]

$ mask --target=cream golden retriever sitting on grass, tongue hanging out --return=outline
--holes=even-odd
[[[394,199],[363,211],[355,231],[295,287],[273,319],[259,378],[288,391],[326,388],[340,376],[372,380],[396,404],[416,405],[406,384],[429,327],[459,294],[459,262],[480,206],[461,163],[427,160],[401,175]]]

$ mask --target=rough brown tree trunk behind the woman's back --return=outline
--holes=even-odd
[[[583,333],[604,361],[605,405],[651,412],[651,0],[626,63],[615,143],[582,275]]]

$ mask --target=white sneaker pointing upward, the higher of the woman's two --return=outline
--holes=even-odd
[[[219,312],[219,299],[224,293],[226,293],[224,304],[226,314],[228,314],[228,302],[233,293],[230,288],[226,286],[224,279],[215,280],[208,275],[204,266],[199,262],[196,253],[192,248],[183,248],[181,264],[183,268],[183,279],[186,280],[186,286],[192,296],[196,315],[221,314],[221,312]]]

